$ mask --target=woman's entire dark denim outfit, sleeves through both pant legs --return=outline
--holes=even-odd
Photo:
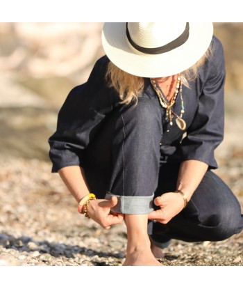
[[[181,162],[196,159],[208,164],[208,171],[187,207],[166,225],[149,221],[149,235],[165,244],[171,238],[217,241],[239,233],[240,204],[212,172],[217,168],[214,151],[224,134],[221,42],[213,37],[212,56],[190,87],[183,86],[184,131],[165,119],[147,78],[137,104],[121,104],[105,79],[108,62],[107,56],[100,58],[87,82],[76,86],[60,109],[57,130],[49,138],[52,171],[82,166],[91,192],[98,198],[118,197],[112,210],[147,214],[155,209],[153,198],[176,189]],[[174,111],[180,115],[180,93]]]

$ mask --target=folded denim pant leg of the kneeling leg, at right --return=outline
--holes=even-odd
[[[177,175],[178,167],[175,166],[167,180],[160,178],[156,194],[173,192]],[[187,207],[166,225],[150,222],[149,234],[156,243],[170,239],[220,241],[240,233],[242,228],[243,217],[237,198],[215,173],[207,171]]]

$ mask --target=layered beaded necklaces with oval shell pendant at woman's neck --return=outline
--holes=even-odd
[[[160,101],[161,107],[166,109],[166,115],[165,119],[169,119],[169,124],[173,125],[173,118],[176,116],[176,125],[181,129],[185,130],[186,128],[186,123],[185,120],[183,120],[183,114],[185,113],[185,107],[184,107],[184,102],[183,102],[183,94],[182,94],[182,84],[181,84],[181,75],[178,75],[177,77],[177,83],[176,83],[176,91],[174,93],[174,96],[171,98],[171,100],[167,100],[167,97],[165,94],[162,92],[161,88],[158,86],[157,82],[153,79],[150,79],[151,84],[153,86],[153,89],[156,91],[156,94],[158,96],[158,100]],[[180,91],[181,93],[181,114],[178,116],[172,107],[174,106],[176,102],[176,97],[178,95],[178,92]]]

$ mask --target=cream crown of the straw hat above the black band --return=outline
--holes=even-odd
[[[128,22],[128,32],[136,45],[156,48],[175,40],[186,22]]]

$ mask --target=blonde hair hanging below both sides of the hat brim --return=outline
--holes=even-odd
[[[193,81],[198,77],[199,68],[206,62],[211,53],[212,49],[210,47],[199,61],[181,73],[181,81],[185,86],[189,87],[188,81]],[[115,91],[119,93],[121,104],[130,104],[132,101],[137,103],[138,97],[144,89],[143,77],[130,75],[128,72],[117,68],[111,61],[108,63],[106,79],[108,86],[115,88]]]

